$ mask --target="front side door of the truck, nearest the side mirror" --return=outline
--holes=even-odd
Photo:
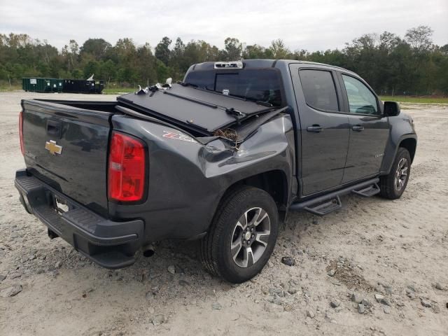
[[[389,123],[373,90],[351,73],[338,73],[346,112],[349,113],[350,144],[344,179],[348,183],[379,174]]]

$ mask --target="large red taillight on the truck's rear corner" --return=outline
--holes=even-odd
[[[145,147],[125,134],[113,132],[109,153],[109,199],[135,202],[144,196]]]

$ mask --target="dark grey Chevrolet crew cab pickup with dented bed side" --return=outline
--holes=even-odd
[[[25,209],[107,268],[162,239],[199,239],[212,274],[265,266],[288,211],[405,191],[412,118],[337,66],[253,59],[190,66],[183,81],[113,102],[22,100],[15,176]]]

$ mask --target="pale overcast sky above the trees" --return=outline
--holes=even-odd
[[[223,48],[230,36],[263,46],[282,38],[291,50],[314,51],[343,48],[365,33],[404,36],[419,25],[433,28],[434,43],[447,44],[448,0],[0,0],[0,33],[26,33],[59,49],[70,39],[82,45],[100,37],[154,47],[163,36]]]

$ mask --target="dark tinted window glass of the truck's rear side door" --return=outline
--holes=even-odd
[[[300,82],[307,105],[323,111],[339,111],[335,81],[325,70],[300,70]]]

